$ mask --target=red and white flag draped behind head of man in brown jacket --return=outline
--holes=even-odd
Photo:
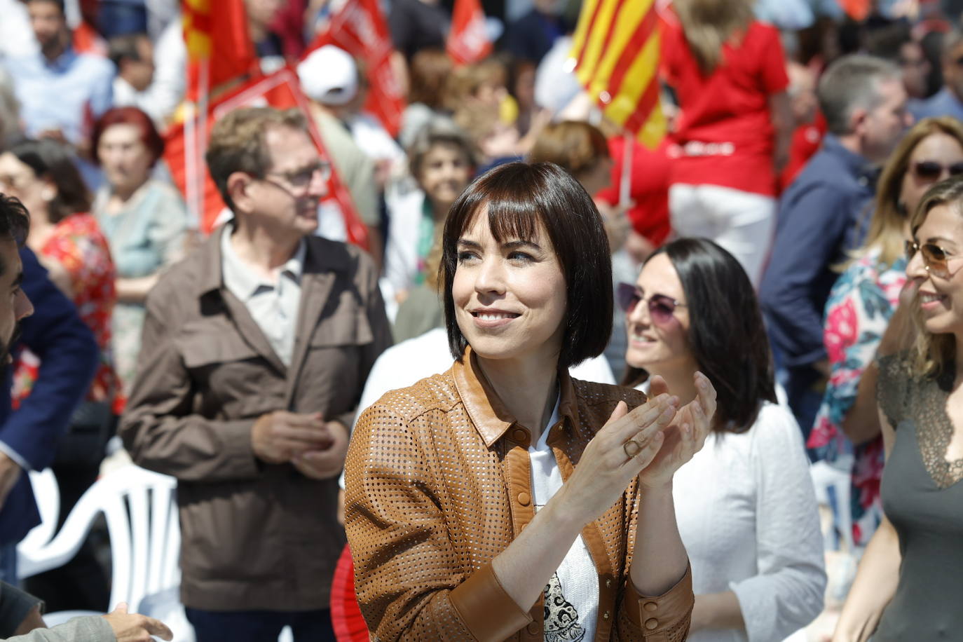
[[[239,107],[265,107],[271,106],[277,109],[298,108],[305,115],[308,114],[307,99],[300,91],[298,75],[290,67],[283,67],[269,76],[261,76],[248,80],[245,84],[230,90],[219,96],[211,103],[207,120],[214,124],[221,116]],[[207,172],[202,154],[192,158],[187,153],[188,138],[185,136],[185,125],[197,127],[196,123],[181,123],[171,127],[166,137],[164,159],[170,167],[170,173],[174,183],[180,188],[182,193],[188,192],[188,181],[192,173],[202,172],[203,186],[200,193],[201,211],[200,228],[205,234],[210,233],[214,221],[224,210],[224,202],[221,193],[218,192],[214,181]],[[330,160],[325,152],[325,145],[321,135],[315,128],[313,121],[308,118],[311,138],[318,145],[318,151],[322,157]],[[206,145],[203,145],[206,146]],[[192,167],[188,167],[191,164]],[[368,232],[354,210],[351,201],[351,193],[341,182],[336,170],[331,170],[328,180],[328,195],[325,200],[333,200],[344,217],[345,228],[348,232],[348,241],[352,244],[367,248]]]

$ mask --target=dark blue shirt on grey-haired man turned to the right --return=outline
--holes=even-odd
[[[760,303],[787,367],[825,358],[822,313],[839,273],[863,243],[878,169],[827,134],[779,202],[776,238]]]

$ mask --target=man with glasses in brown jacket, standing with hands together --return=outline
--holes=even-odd
[[[178,478],[181,599],[198,642],[333,640],[345,544],[337,476],[365,378],[391,343],[371,258],[312,236],[329,167],[297,112],[244,108],[207,164],[234,219],[147,297],[120,424]]]

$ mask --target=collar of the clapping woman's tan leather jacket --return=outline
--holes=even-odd
[[[485,446],[491,448],[508,428],[516,423],[514,416],[508,411],[505,403],[498,397],[495,389],[481,372],[478,357],[472,347],[465,347],[465,352],[459,361],[452,366],[455,378],[455,389],[465,406],[468,417],[475,424]],[[575,386],[567,368],[559,369],[559,418],[563,424],[576,426],[578,429],[578,401]],[[551,426],[550,426],[551,427]],[[531,442],[531,439],[530,439]]]

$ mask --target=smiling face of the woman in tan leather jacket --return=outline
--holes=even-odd
[[[558,358],[564,332],[565,278],[545,229],[534,239],[503,239],[486,207],[457,244],[452,284],[458,328],[487,359]]]

